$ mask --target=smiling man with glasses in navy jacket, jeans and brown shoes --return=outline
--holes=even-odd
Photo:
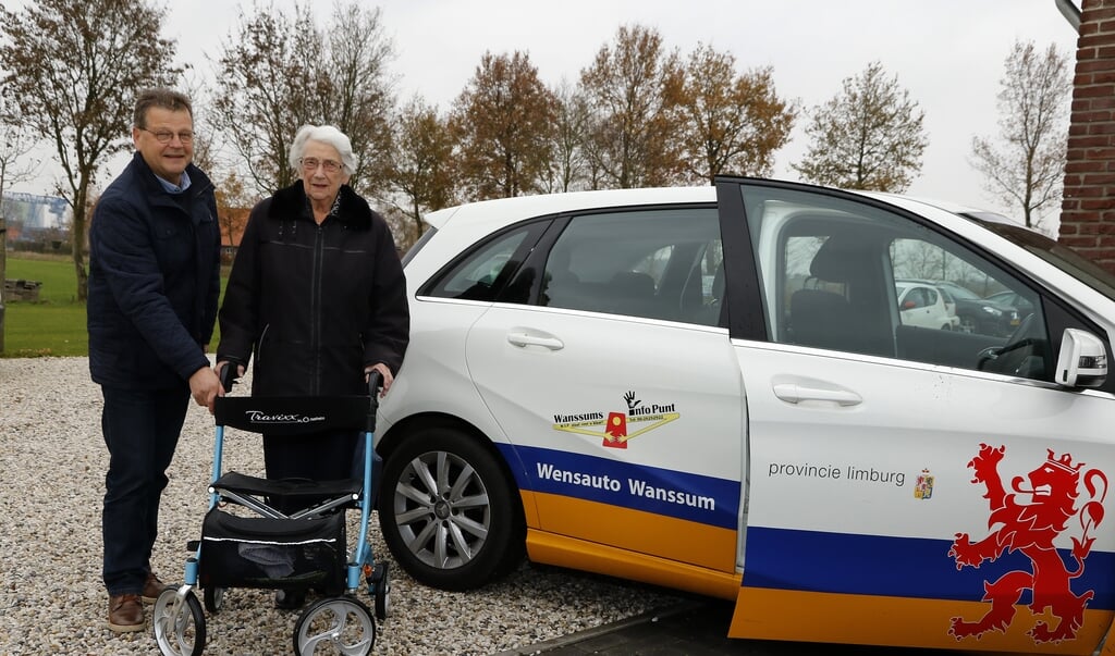
[[[193,158],[186,96],[144,91],[136,153],[89,227],[89,371],[101,386],[108,473],[101,515],[108,628],[140,630],[143,601],[166,587],[151,569],[158,505],[190,398],[221,390],[205,355],[221,290],[213,183]]]

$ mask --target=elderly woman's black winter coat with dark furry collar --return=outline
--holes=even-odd
[[[253,360],[256,395],[366,393],[403,363],[406,281],[390,229],[348,185],[318,225],[302,182],[253,209],[221,306],[217,361]]]

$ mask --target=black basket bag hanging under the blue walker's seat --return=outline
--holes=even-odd
[[[339,594],[345,513],[317,519],[239,517],[213,508],[202,523],[202,588],[314,588]]]

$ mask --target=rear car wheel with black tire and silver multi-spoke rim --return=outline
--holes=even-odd
[[[398,444],[384,466],[378,510],[399,566],[424,585],[454,591],[514,569],[525,552],[525,522],[494,449],[446,427],[420,429]]]

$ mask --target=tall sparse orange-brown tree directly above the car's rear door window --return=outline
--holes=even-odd
[[[680,170],[678,143],[663,94],[680,75],[678,56],[666,52],[657,30],[620,27],[581,71],[581,90],[592,112],[586,153],[603,185],[665,185]]]

